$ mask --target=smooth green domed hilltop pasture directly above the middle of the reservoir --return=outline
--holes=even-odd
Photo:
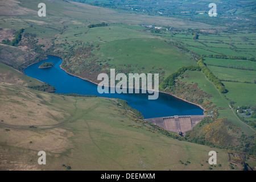
[[[164,73],[167,77],[183,65],[196,65],[192,57],[158,39],[126,39],[102,43],[93,51],[99,60],[108,60],[110,68],[127,68],[134,73]]]

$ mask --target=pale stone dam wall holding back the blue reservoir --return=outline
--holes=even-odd
[[[187,131],[192,130],[193,127],[205,117],[208,117],[208,115],[174,115],[170,117],[149,118],[145,120],[162,127],[164,130],[184,136]]]

